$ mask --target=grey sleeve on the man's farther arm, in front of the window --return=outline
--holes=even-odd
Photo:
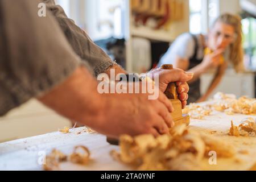
[[[47,4],[48,9],[55,16],[73,50],[82,60],[89,63],[96,76],[116,64],[100,47],[93,43],[85,31],[67,17],[61,6],[55,5],[54,0],[42,1]]]

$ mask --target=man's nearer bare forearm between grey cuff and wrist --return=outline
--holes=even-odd
[[[83,67],[38,100],[64,117],[92,128],[97,129],[104,117],[104,100],[97,92],[97,81]]]

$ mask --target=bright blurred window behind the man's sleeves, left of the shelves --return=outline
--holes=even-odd
[[[93,40],[123,38],[124,0],[55,0]]]

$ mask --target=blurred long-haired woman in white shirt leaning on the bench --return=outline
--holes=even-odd
[[[189,82],[188,104],[207,100],[228,65],[232,65],[236,72],[244,69],[241,18],[223,14],[214,21],[208,35],[180,35],[160,60],[159,66],[162,64],[174,64],[176,68],[194,73]],[[200,76],[213,68],[216,69],[214,78],[207,92],[201,96]]]

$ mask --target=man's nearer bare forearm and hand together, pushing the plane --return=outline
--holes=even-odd
[[[85,68],[77,68],[38,100],[64,117],[109,137],[158,136],[174,126],[170,114],[174,109],[163,93],[159,93],[157,100],[148,100],[148,94],[99,94],[95,78]]]

